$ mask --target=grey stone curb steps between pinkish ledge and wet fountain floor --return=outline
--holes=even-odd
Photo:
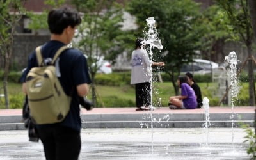
[[[211,113],[209,127],[253,127],[255,113]],[[230,116],[234,120],[230,120]],[[202,127],[205,115],[202,113],[153,113],[153,127],[156,128],[191,128]],[[151,127],[151,114],[83,114],[83,128],[145,128]],[[25,129],[21,115],[1,115],[0,131]]]

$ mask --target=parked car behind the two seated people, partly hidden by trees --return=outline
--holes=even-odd
[[[194,59],[193,63],[183,65],[180,72],[194,72],[194,74],[209,74],[211,69],[218,68],[218,63],[203,59]]]

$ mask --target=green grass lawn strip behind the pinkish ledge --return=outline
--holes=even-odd
[[[1,82],[3,84],[3,82]],[[213,83],[198,83],[202,90],[202,97],[208,97],[210,106],[217,106],[218,97],[214,95],[216,86]],[[243,83],[237,106],[245,106],[248,99],[248,83]],[[3,92],[3,90],[1,91]],[[22,93],[22,84],[8,83],[8,93],[10,99],[10,108],[22,108],[24,94]],[[170,96],[175,95],[172,83],[154,83],[153,104],[154,106],[167,106]],[[134,107],[135,89],[131,85],[123,86],[97,86],[98,106],[102,107]],[[92,99],[92,93],[88,95]],[[240,103],[240,104],[239,104]],[[0,99],[0,109],[4,108],[4,99]]]

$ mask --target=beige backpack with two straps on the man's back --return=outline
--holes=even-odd
[[[33,67],[26,77],[26,90],[31,120],[35,124],[54,124],[64,120],[70,109],[71,97],[68,97],[56,76],[54,62],[63,46],[56,52],[51,65],[44,65],[41,46],[36,47],[36,58],[39,67]]]

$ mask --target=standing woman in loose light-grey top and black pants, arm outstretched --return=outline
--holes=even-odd
[[[151,65],[164,66],[164,62],[150,61],[147,52],[142,49],[143,39],[137,38],[132,52],[131,84],[135,84],[136,111],[149,110],[151,104]]]

